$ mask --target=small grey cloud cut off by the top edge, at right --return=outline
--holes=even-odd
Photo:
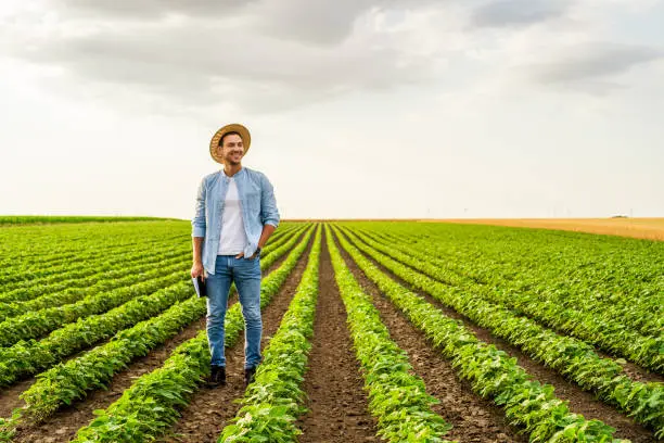
[[[477,27],[526,26],[560,18],[570,8],[567,0],[498,0],[475,9],[471,24]]]

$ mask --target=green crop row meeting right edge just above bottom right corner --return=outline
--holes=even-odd
[[[592,346],[571,337],[561,337],[533,320],[518,316],[501,305],[473,296],[467,288],[451,288],[430,278],[437,268],[427,263],[424,254],[412,257],[398,252],[399,245],[382,246],[365,236],[349,233],[355,246],[380,263],[397,277],[414,288],[425,291],[447,306],[467,316],[493,334],[506,339],[523,350],[532,358],[576,382],[583,389],[595,392],[602,400],[664,436],[664,385],[641,383],[625,376],[623,368],[610,358],[601,358]],[[356,237],[357,236],[357,237]],[[363,241],[367,245],[360,244]],[[385,255],[382,255],[381,252]],[[394,258],[394,260],[391,260]],[[421,273],[396,262],[399,261]]]

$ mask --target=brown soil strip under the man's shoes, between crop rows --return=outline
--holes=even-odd
[[[279,329],[281,318],[295,295],[307,266],[312,241],[297,262],[284,286],[263,313],[260,347],[269,343]],[[182,417],[159,442],[216,442],[224,427],[235,416],[241,405],[235,400],[244,395],[244,341],[240,340],[226,352],[227,385],[216,389],[202,388],[182,410]]]

